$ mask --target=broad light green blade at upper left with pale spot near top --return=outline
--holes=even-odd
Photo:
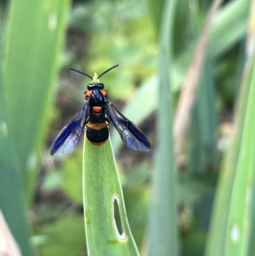
[[[6,31],[6,93],[24,187],[40,163],[69,0],[11,1]]]

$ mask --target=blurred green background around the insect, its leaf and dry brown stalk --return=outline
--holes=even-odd
[[[110,126],[141,255],[255,255],[253,1],[215,11],[182,151],[173,153],[175,109],[212,3],[0,1],[0,209],[22,255],[87,255],[82,143],[59,158],[49,149],[91,82],[68,67],[93,75],[117,63],[100,80],[152,144],[132,151]]]

